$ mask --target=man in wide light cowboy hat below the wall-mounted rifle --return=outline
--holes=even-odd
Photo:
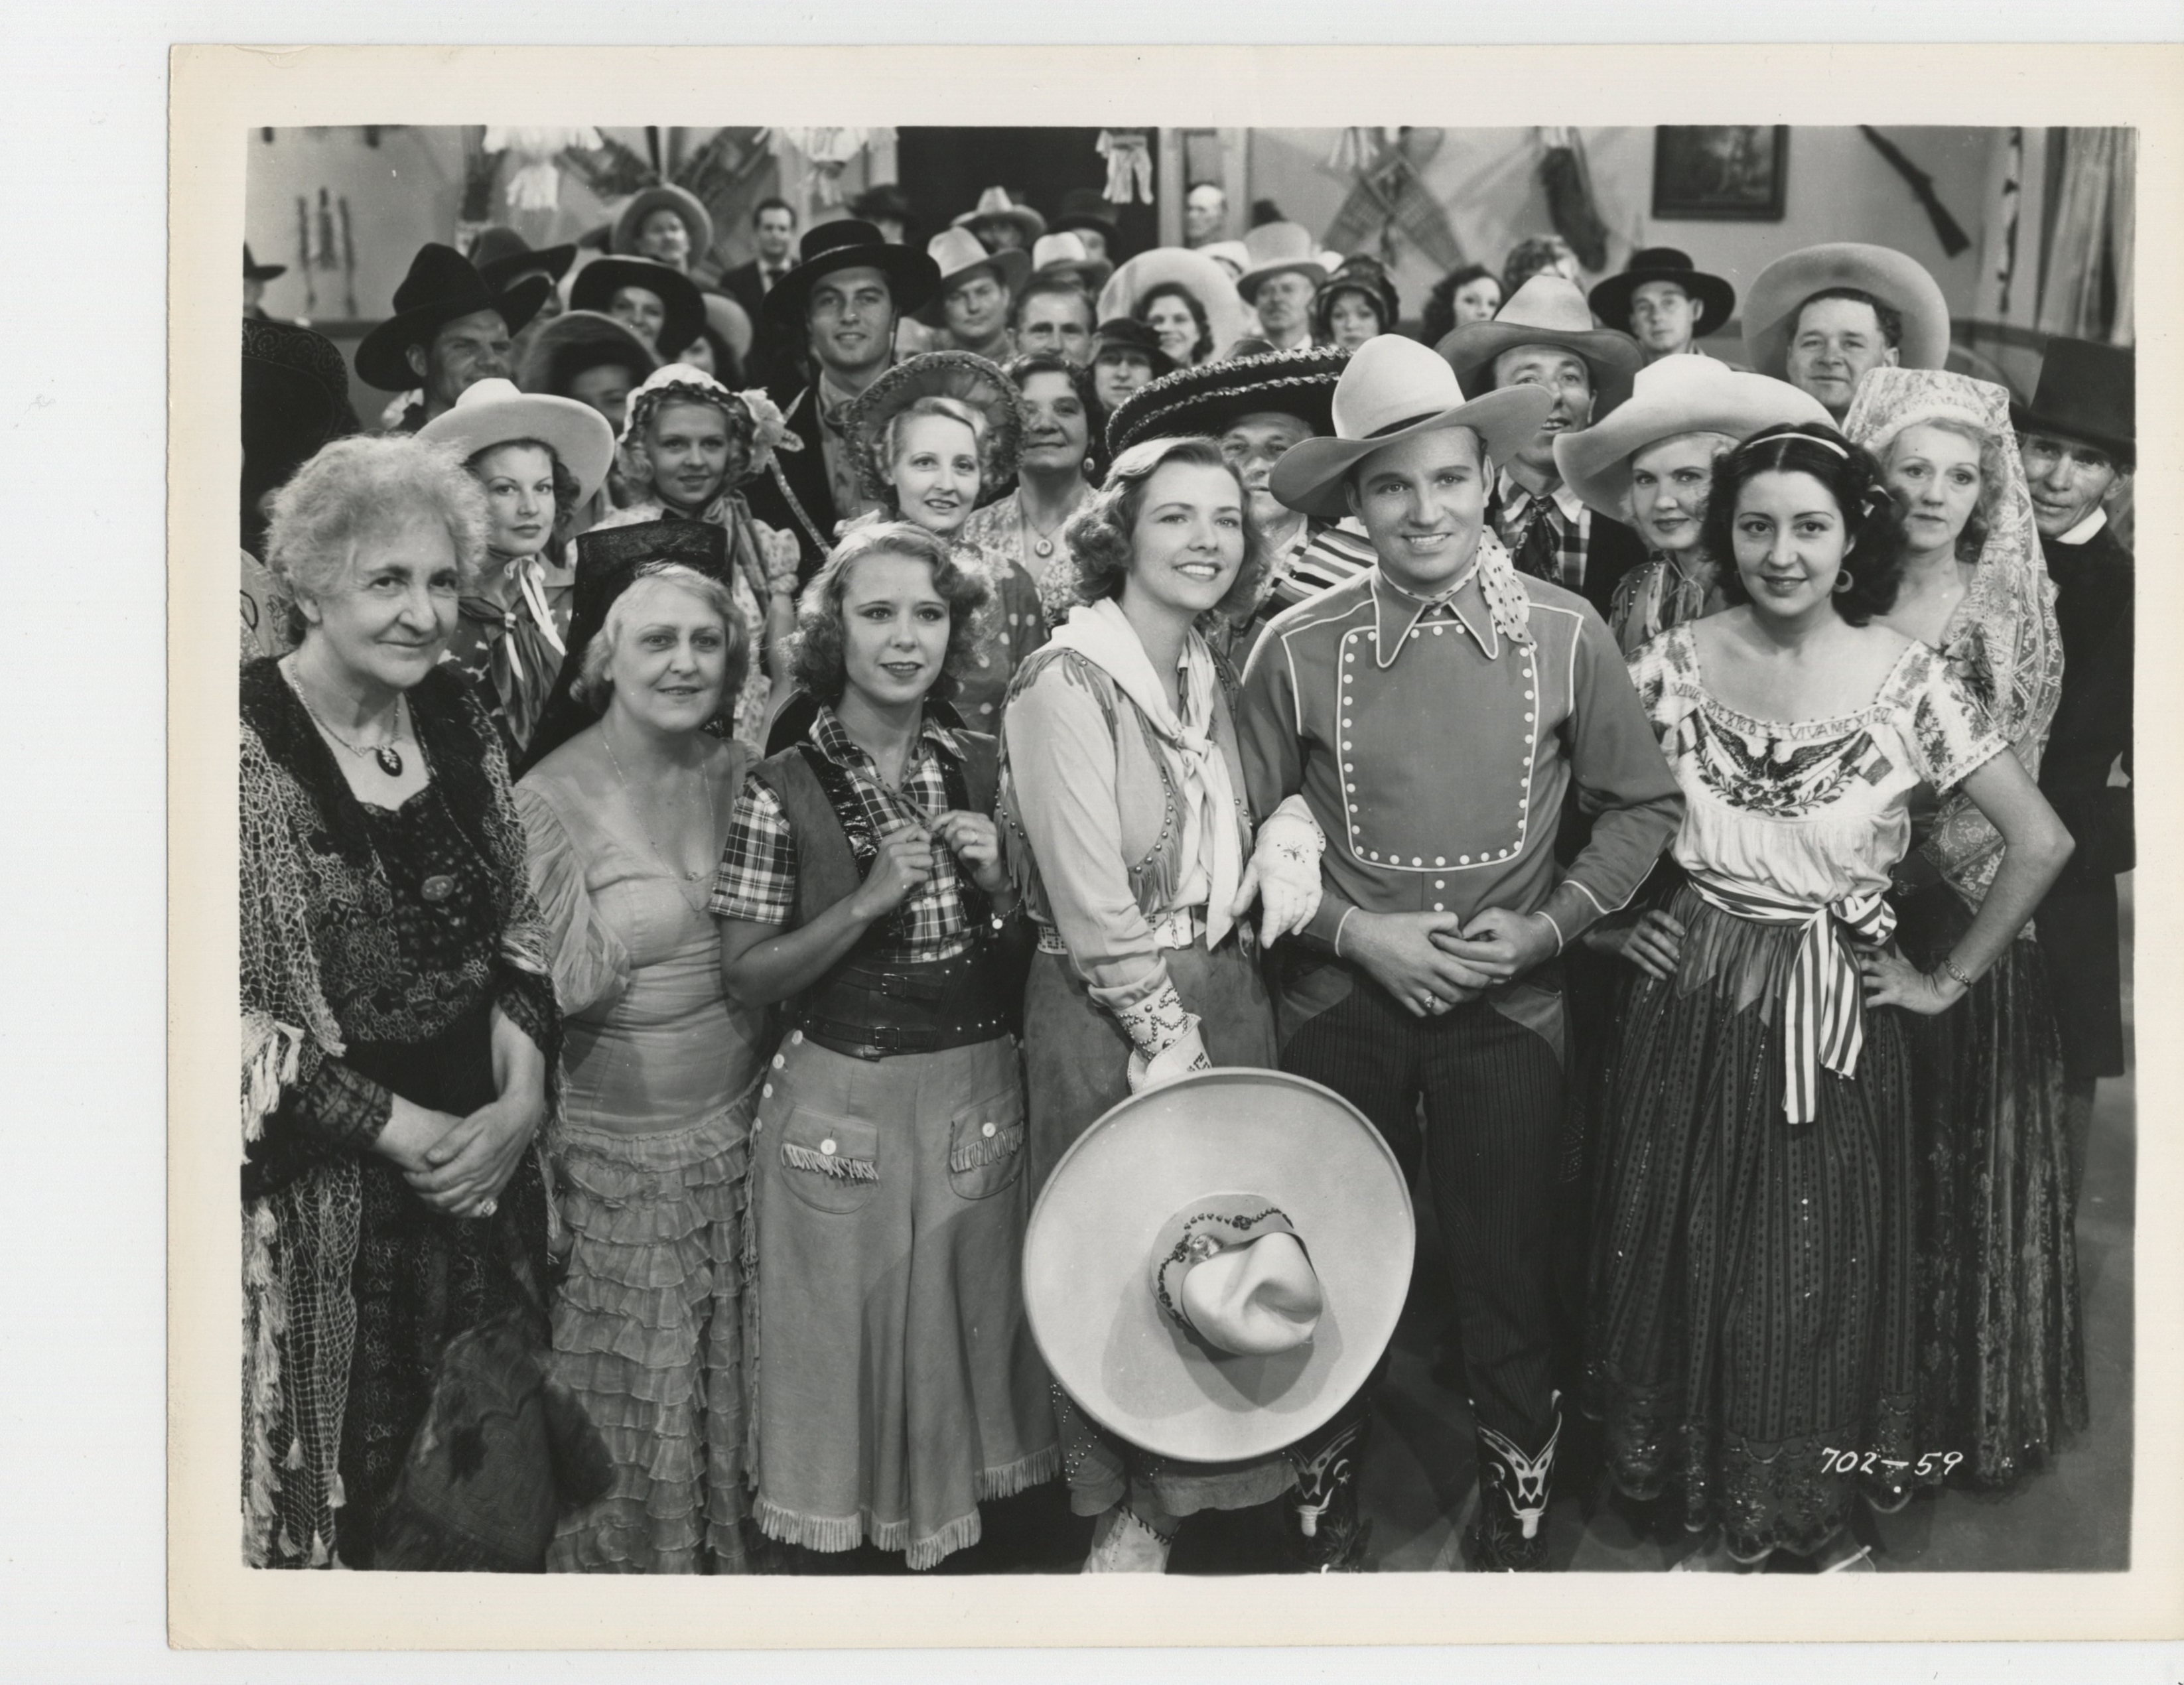
[[[1948,299],[1918,262],[1839,240],[1776,258],[1745,299],[1745,360],[1841,426],[1867,369],[1948,362]]]

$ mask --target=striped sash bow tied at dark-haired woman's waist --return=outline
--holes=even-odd
[[[1880,947],[1896,930],[1896,908],[1878,891],[1813,906],[1758,884],[1690,873],[1708,906],[1767,925],[1804,925],[1782,1002],[1782,1111],[1793,1124],[1819,1113],[1819,1067],[1856,1076],[1865,1045],[1865,987],[1850,943]]]

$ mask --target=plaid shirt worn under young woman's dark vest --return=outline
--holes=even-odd
[[[902,770],[902,788],[880,781],[871,755],[850,742],[834,709],[821,707],[810,738],[819,753],[841,766],[856,790],[865,823],[878,836],[889,825],[915,821],[930,825],[948,810],[948,786],[941,779],[941,755],[961,760],[954,736],[926,720],[924,731]],[[747,779],[736,797],[736,814],[727,827],[727,847],[712,880],[712,917],[743,919],[756,925],[784,925],[797,910],[797,840],[780,799],[758,779]],[[970,947],[972,925],[963,906],[963,873],[957,858],[933,845],[933,875],[895,908],[882,925],[876,958],[895,965],[946,960]]]

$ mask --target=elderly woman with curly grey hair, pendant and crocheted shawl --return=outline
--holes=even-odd
[[[395,1489],[441,1360],[485,1325],[546,1340],[548,934],[500,736],[441,664],[485,537],[485,489],[417,439],[328,445],[273,502],[295,648],[242,668],[258,1565],[446,1565]]]

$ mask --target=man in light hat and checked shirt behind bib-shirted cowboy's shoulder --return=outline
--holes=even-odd
[[[1540,430],[1496,463],[1487,519],[1520,574],[1551,578],[1605,616],[1616,583],[1645,561],[1645,546],[1562,482],[1555,439],[1623,397],[1638,373],[1638,340],[1594,327],[1577,284],[1544,273],[1511,292],[1492,321],[1463,323],[1437,349],[1465,389],[1529,384],[1553,397]]]

